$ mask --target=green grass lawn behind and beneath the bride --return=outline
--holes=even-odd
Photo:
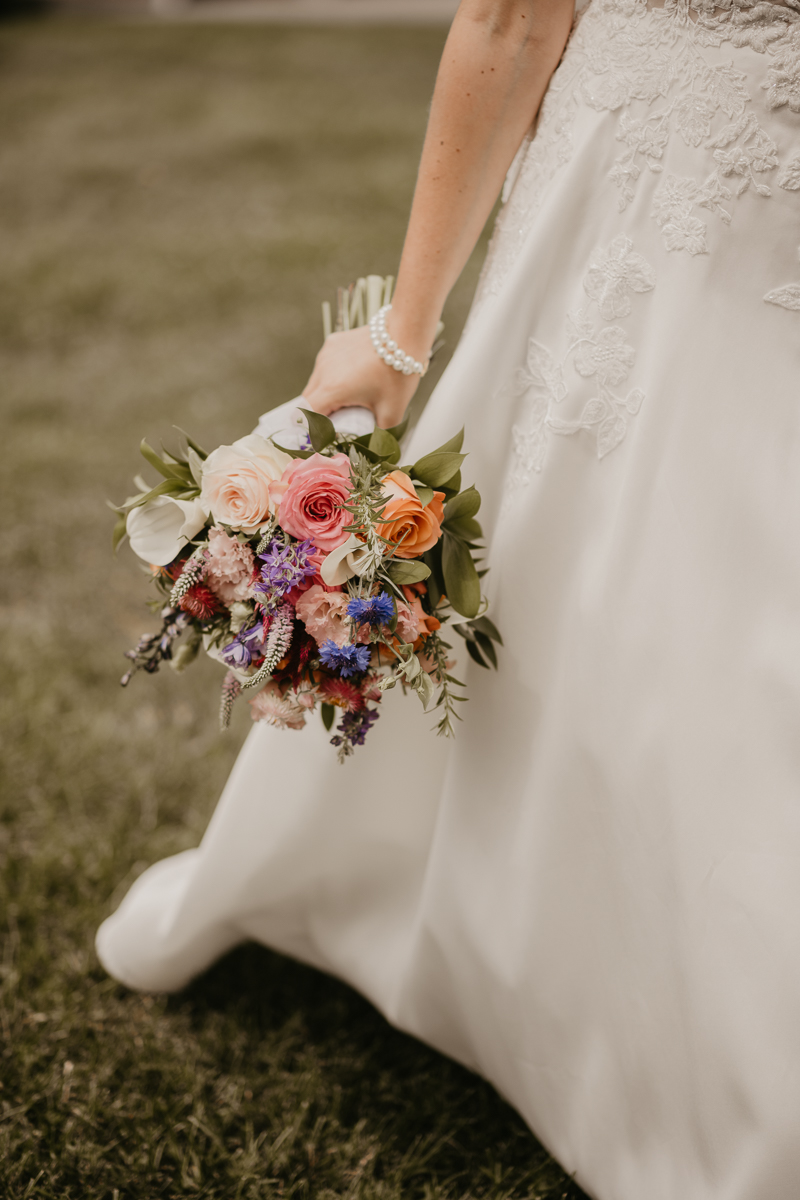
[[[218,733],[210,664],[119,688],[146,589],[103,502],[143,436],[229,442],[296,395],[319,300],[395,269],[441,41],[0,28],[4,1200],[581,1195],[343,985],[249,946],[143,997],[92,949],[199,841],[247,725]]]

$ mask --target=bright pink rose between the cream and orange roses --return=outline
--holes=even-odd
[[[281,479],[270,484],[270,499],[279,504],[281,528],[293,538],[307,538],[325,552],[348,539],[343,528],[350,523],[350,514],[342,505],[349,496],[350,461],[343,454],[295,458]]]

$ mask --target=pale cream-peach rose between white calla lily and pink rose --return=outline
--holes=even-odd
[[[249,433],[218,446],[203,463],[200,499],[219,524],[253,534],[275,511],[270,484],[291,463],[288,454]]]

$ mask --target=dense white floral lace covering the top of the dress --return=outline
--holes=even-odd
[[[747,77],[712,53],[723,43],[765,56],[760,101]],[[551,80],[536,136],[510,173],[479,296],[499,292],[551,180],[570,161],[578,104],[622,109],[622,149],[610,168],[620,211],[634,200],[644,170],[662,173],[672,137],[697,151],[697,173],[667,173],[650,211],[664,247],[694,256],[709,252],[709,215],[729,223],[745,192],[768,198],[774,184],[800,190],[800,155],[781,164],[756,101],[800,113],[800,0],[666,0],[662,7],[593,0]]]

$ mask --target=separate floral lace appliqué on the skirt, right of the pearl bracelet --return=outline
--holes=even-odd
[[[587,431],[594,436],[599,458],[620,444],[628,419],[642,407],[644,392],[634,389],[619,396],[612,390],[626,382],[636,352],[628,346],[622,326],[610,323],[627,317],[632,298],[651,292],[655,282],[652,266],[633,250],[631,239],[615,238],[607,250],[596,251],[589,260],[583,289],[590,304],[567,316],[563,358],[557,359],[536,338],[529,340],[525,365],[495,395],[500,402],[522,400],[522,416],[511,430],[513,452],[504,508],[545,466],[551,434],[570,437]],[[590,313],[591,301],[607,322],[600,328]],[[570,365],[582,378],[596,380],[597,394],[587,401],[578,416],[564,419],[557,406],[570,395]]]

